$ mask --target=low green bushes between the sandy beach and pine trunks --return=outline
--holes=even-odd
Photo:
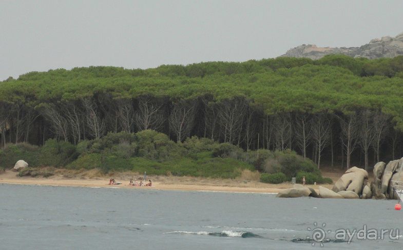
[[[81,141],[78,145],[50,139],[43,147],[20,143],[9,144],[0,150],[2,166],[10,168],[21,158],[29,162],[30,168],[21,170],[20,176],[47,177],[51,173],[31,167],[55,166],[73,170],[100,169],[104,174],[132,171],[213,178],[236,178],[244,171],[264,172],[267,174],[262,175],[262,181],[270,183],[289,181],[297,174],[309,172],[306,175],[310,176],[310,183],[331,182],[321,177],[311,160],[304,160],[292,151],[244,152],[235,145],[197,137],[176,143],[165,134],[150,130],[136,134],[109,133],[101,139]],[[276,173],[280,172],[284,176],[279,179]]]

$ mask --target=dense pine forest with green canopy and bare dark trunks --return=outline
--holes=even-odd
[[[369,169],[403,154],[401,93],[403,56],[57,69],[0,82],[0,137],[77,147],[153,130]]]

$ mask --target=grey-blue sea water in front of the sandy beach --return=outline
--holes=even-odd
[[[401,249],[395,203],[0,184],[0,249]],[[336,239],[364,228],[395,232]]]

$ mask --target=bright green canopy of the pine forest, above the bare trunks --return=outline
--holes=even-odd
[[[319,60],[279,57],[243,63],[162,65],[154,69],[88,67],[30,72],[0,82],[0,102],[60,102],[109,93],[113,98],[245,97],[266,114],[343,112],[390,114],[403,129],[403,56],[375,60],[343,55]]]

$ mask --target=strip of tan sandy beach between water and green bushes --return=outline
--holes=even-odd
[[[210,191],[210,192],[244,192],[244,193],[278,193],[280,190],[292,188],[291,182],[281,184],[267,184],[253,180],[254,178],[238,179],[210,179],[198,177],[176,177],[176,176],[147,176],[152,180],[152,186],[130,186],[131,178],[139,178],[136,173],[124,172],[102,176],[95,170],[72,172],[69,170],[56,170],[51,177],[18,177],[17,172],[7,170],[0,173],[2,184],[22,185],[50,185],[50,186],[81,186],[88,188],[118,188],[118,189],[155,189],[155,190],[177,190],[177,191]],[[325,175],[333,179],[332,173]],[[334,178],[337,178],[337,173]],[[109,179],[114,178],[120,185],[108,185]],[[318,185],[307,185],[318,189]],[[333,184],[323,184],[326,188],[332,188]]]

